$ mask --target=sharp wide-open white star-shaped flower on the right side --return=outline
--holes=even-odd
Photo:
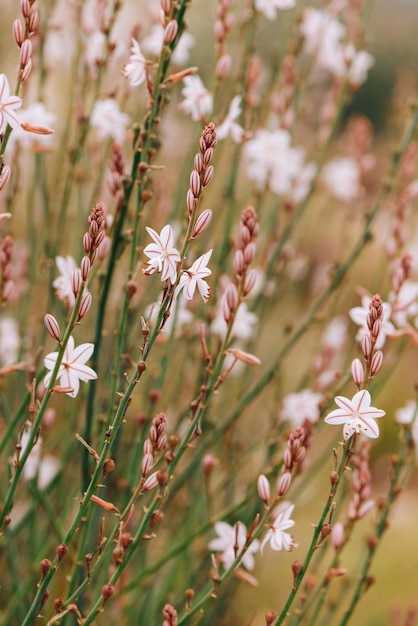
[[[337,396],[335,403],[340,407],[331,411],[325,421],[327,424],[344,424],[344,439],[350,439],[354,433],[363,433],[371,439],[379,436],[379,426],[375,420],[386,415],[385,411],[370,406],[370,393],[367,389],[358,391],[351,400]]]

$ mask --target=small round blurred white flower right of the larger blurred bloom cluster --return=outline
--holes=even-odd
[[[360,168],[351,157],[342,157],[327,163],[322,172],[322,180],[338,200],[350,202],[359,195]]]

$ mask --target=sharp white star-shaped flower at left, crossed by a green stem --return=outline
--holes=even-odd
[[[72,391],[67,392],[67,396],[71,396],[71,398],[76,397],[80,389],[80,380],[85,383],[89,380],[96,380],[96,372],[86,365],[86,361],[89,360],[93,351],[93,343],[81,343],[78,348],[76,348],[74,346],[74,338],[72,336],[69,338],[57,376],[62,387],[72,389]],[[45,367],[50,370],[44,378],[46,387],[51,381],[52,370],[55,367],[57,358],[58,352],[51,352],[45,357]]]

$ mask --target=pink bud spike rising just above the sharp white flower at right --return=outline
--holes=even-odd
[[[376,294],[371,299],[369,313],[367,315],[367,332],[364,332],[360,347],[367,367],[367,373],[360,359],[354,359],[351,364],[351,374],[358,389],[362,389],[382,367],[383,352],[376,350],[376,342],[379,337],[383,320],[382,298]]]

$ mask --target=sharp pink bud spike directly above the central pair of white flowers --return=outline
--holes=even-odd
[[[195,154],[194,157],[194,169],[190,174],[190,187],[187,191],[187,211],[189,214],[189,218],[194,219],[195,211],[199,202],[199,198],[201,196],[202,190],[207,187],[210,181],[213,178],[214,167],[211,165],[211,161],[213,159],[213,151],[216,147],[216,131],[215,125],[210,122],[207,126],[205,126],[202,131],[202,135],[200,137],[199,142],[199,152]],[[207,212],[204,212],[207,213]],[[202,214],[203,215],[203,214]],[[201,217],[201,216],[200,216]],[[205,216],[202,223],[199,223],[199,227],[197,226],[197,222],[195,224],[195,228],[193,231],[193,237],[200,234],[207,228],[210,219],[208,215]],[[199,218],[198,218],[199,220]]]

